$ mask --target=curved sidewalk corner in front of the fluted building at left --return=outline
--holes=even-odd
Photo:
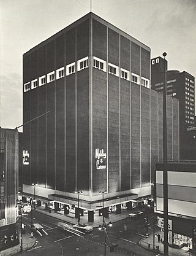
[[[10,256],[19,254],[21,252],[21,236],[19,237],[20,243],[17,246],[10,247],[6,250],[1,250],[0,256]],[[23,252],[30,249],[36,243],[36,238],[30,238],[29,233],[23,234]]]

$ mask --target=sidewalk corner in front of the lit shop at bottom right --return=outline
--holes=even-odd
[[[154,251],[159,254],[164,254],[164,244],[162,242],[158,242],[157,234],[160,233],[160,230],[155,232],[154,238]],[[139,241],[139,245],[145,249],[153,250],[153,234],[149,235],[148,238],[143,238]],[[187,247],[186,247],[187,249]],[[168,247],[168,252],[170,256],[194,256],[191,252],[183,249],[175,249],[173,247]]]

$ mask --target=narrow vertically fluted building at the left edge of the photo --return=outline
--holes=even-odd
[[[18,131],[0,127],[0,250],[19,243],[17,222]]]

